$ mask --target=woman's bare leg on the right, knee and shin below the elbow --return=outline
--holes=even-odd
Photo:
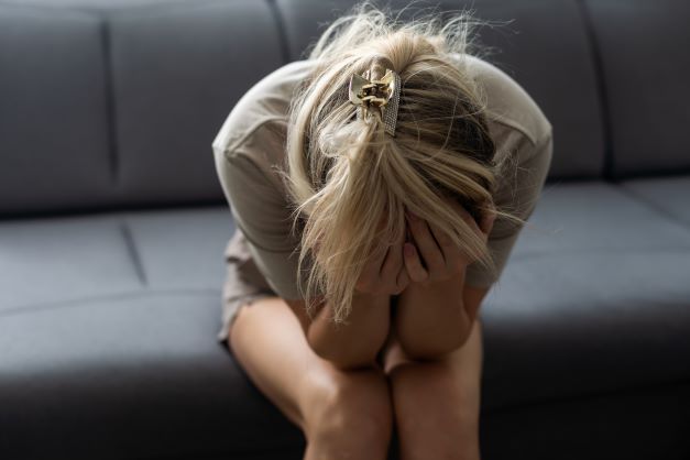
[[[413,361],[392,338],[390,376],[401,460],[480,460],[481,322],[467,342],[438,361]]]

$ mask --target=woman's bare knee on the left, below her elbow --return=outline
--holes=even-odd
[[[385,458],[393,434],[393,403],[380,370],[343,373],[319,386],[307,431],[309,442]],[[365,457],[357,457],[365,458]],[[366,457],[369,458],[369,457]]]

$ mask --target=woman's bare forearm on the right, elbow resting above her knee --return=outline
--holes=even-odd
[[[401,294],[395,332],[406,354],[434,359],[466,342],[471,321],[463,305],[464,271],[435,284],[413,283]]]

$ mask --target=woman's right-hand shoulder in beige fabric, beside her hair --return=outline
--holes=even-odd
[[[469,54],[452,54],[461,69],[472,75],[492,130],[497,136],[518,131],[532,144],[547,138],[552,127],[541,108],[513,77],[494,64]],[[512,133],[515,134],[515,133]]]

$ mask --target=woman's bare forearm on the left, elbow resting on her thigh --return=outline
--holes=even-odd
[[[340,369],[374,365],[391,327],[388,295],[355,294],[346,324],[333,324],[332,305],[326,300],[307,332],[315,352]]]

